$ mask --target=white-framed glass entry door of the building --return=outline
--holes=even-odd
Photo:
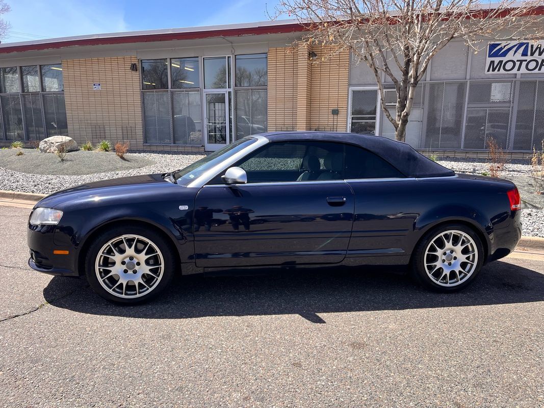
[[[218,150],[230,143],[227,92],[205,93],[205,149]]]

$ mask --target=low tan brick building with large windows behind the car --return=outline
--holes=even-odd
[[[269,21],[2,44],[0,146],[55,134],[152,151],[213,151],[267,131],[393,137],[368,68],[347,52],[320,61],[328,50],[292,46],[301,34],[295,21]],[[540,146],[544,64],[509,71],[496,51],[452,42],[433,59],[408,143],[485,155],[489,137],[511,152]],[[385,97],[393,109],[394,90]]]

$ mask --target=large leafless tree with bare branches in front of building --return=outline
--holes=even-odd
[[[299,45],[348,50],[374,73],[381,109],[404,141],[416,86],[431,59],[454,39],[478,51],[484,39],[535,40],[544,32],[542,1],[499,0],[282,0],[278,15],[296,17],[306,34]],[[397,92],[395,113],[385,103],[384,82]]]

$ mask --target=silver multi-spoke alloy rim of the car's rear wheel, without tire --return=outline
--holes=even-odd
[[[438,234],[425,250],[425,271],[440,286],[457,286],[474,273],[478,248],[465,232],[450,230]]]

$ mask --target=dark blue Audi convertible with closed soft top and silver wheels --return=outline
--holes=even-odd
[[[323,132],[244,137],[184,169],[58,191],[28,221],[28,264],[86,276],[107,300],[151,299],[175,274],[406,265],[452,292],[521,237],[507,180],[455,174],[407,144]]]

